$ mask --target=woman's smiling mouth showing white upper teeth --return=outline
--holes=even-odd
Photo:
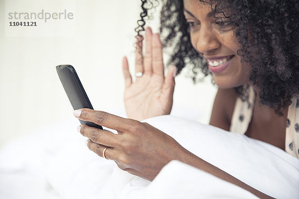
[[[224,71],[232,62],[235,55],[223,56],[223,57],[210,57],[205,59],[209,64],[209,70],[212,73],[220,73]]]

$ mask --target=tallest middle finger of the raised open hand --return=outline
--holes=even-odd
[[[144,66],[145,66],[145,74],[151,75],[151,39],[152,38],[152,32],[151,28],[146,28],[146,54],[144,57]]]

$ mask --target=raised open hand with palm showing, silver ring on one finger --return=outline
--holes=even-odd
[[[169,114],[172,107],[174,77],[176,68],[172,66],[164,77],[162,44],[159,34],[146,28],[146,53],[142,55],[142,37],[136,42],[135,71],[142,74],[132,82],[128,60],[123,59],[125,77],[124,102],[129,118],[143,120],[149,117]]]

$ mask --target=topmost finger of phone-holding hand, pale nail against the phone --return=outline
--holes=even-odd
[[[73,113],[77,118],[81,120],[91,121],[96,124],[115,129],[121,133],[127,131],[131,128],[132,125],[134,126],[137,124],[137,122],[139,122],[137,120],[126,119],[110,114],[108,112],[92,110],[89,108],[74,110]]]

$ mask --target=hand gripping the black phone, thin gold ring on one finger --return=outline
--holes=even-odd
[[[186,157],[186,149],[148,123],[88,108],[75,110],[74,115],[118,131],[114,134],[87,125],[78,127],[78,131],[89,138],[87,146],[90,150],[101,157],[104,154],[133,175],[151,181],[168,162],[183,161]]]

